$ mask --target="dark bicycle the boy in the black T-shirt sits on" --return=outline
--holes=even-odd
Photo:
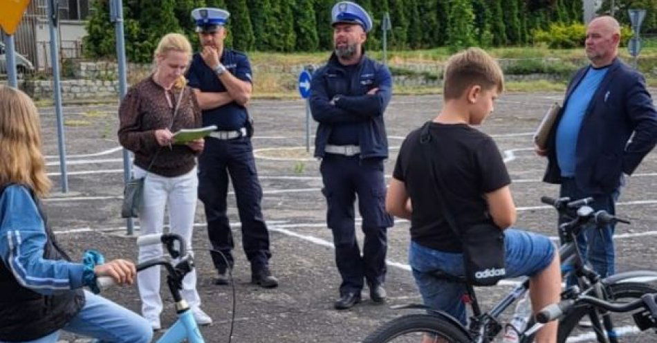
[[[622,272],[612,275],[607,278],[600,278],[597,272],[586,266],[575,237],[580,234],[590,223],[600,225],[602,223],[611,223],[612,221],[620,223],[628,223],[622,219],[611,216],[607,212],[599,211],[593,212],[593,209],[588,206],[592,198],[584,198],[577,201],[570,201],[569,198],[552,199],[542,197],[541,201],[555,207],[560,213],[569,218],[573,218],[570,222],[559,225],[559,230],[562,230],[566,237],[569,237],[566,242],[559,248],[559,256],[562,261],[562,275],[574,273],[577,277],[577,283],[582,285],[584,295],[593,295],[598,299],[613,300],[630,298],[636,299],[646,293],[657,293],[657,288],[644,284],[641,282],[631,282],[631,279],[637,277],[657,277],[657,272],[651,270],[637,270],[632,272]],[[434,276],[445,279],[447,281],[458,282],[465,284],[466,293],[463,301],[470,308],[470,324],[468,327],[463,326],[459,320],[451,315],[441,311],[433,310],[424,305],[411,304],[405,306],[395,306],[395,308],[409,308],[409,309],[422,309],[426,313],[411,314],[393,319],[380,326],[376,331],[368,335],[364,343],[387,343],[387,342],[476,342],[487,343],[492,342],[498,333],[502,330],[503,326],[499,322],[499,316],[506,308],[513,304],[517,299],[523,297],[529,288],[529,279],[524,278],[518,286],[516,286],[508,295],[503,297],[493,308],[487,313],[482,313],[479,303],[477,302],[474,288],[472,285],[467,284],[465,277],[455,277],[446,275],[441,271],[434,272]],[[562,299],[570,299],[579,295],[576,289],[569,288],[562,293]],[[600,331],[600,318],[598,313],[585,308],[580,312],[573,311],[568,316],[559,322],[559,332],[557,335],[557,342],[566,342],[566,338],[573,332],[574,326],[580,322],[580,319],[589,314],[591,322],[594,325],[594,331]],[[605,329],[613,332],[613,320],[607,314],[603,314],[603,324]],[[595,326],[595,324],[598,326]],[[519,333],[519,342],[533,342],[535,332],[543,324],[535,322],[533,318],[528,320],[527,328]],[[431,340],[431,338],[438,338],[441,340]],[[611,340],[606,339],[604,334],[596,334],[599,342],[617,343],[615,337]]]

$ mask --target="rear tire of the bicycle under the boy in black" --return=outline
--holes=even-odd
[[[420,342],[423,333],[432,333],[443,337],[447,342],[470,343],[461,328],[435,315],[414,314],[398,317],[387,322],[369,334],[362,343]],[[408,340],[397,341],[402,335],[415,335]]]

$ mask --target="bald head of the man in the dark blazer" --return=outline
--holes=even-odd
[[[618,55],[620,24],[613,17],[597,17],[586,28],[586,57],[595,67],[607,66]]]

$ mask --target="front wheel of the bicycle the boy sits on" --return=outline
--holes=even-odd
[[[633,302],[646,293],[657,293],[657,288],[649,284],[641,284],[639,282],[627,282],[620,284],[609,285],[609,301],[622,304]],[[559,322],[559,335],[557,342],[600,342],[598,335],[602,333],[595,333],[595,328],[587,325],[582,325],[589,322],[591,317],[592,307],[588,305],[578,306],[573,308],[566,316]],[[622,343],[649,343],[655,342],[657,336],[654,330],[640,331],[634,323],[632,314],[630,313],[609,313],[613,331],[607,333],[607,337],[616,337],[617,342]],[[600,322],[602,323],[602,316]],[[588,324],[588,323],[586,323]],[[604,331],[604,327],[603,327]],[[613,340],[610,340],[613,342]]]

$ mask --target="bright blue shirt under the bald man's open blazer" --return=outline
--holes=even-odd
[[[561,176],[575,176],[577,137],[580,135],[582,120],[584,120],[586,109],[589,108],[595,91],[598,90],[604,75],[607,75],[607,71],[609,71],[609,66],[598,69],[589,68],[568,99],[564,116],[557,127],[557,163],[561,169]]]

